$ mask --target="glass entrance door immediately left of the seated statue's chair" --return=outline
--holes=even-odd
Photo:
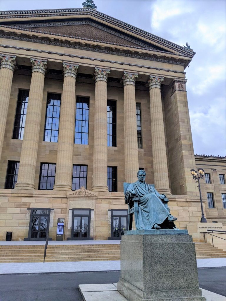
[[[121,240],[127,230],[127,210],[111,210],[111,239]]]

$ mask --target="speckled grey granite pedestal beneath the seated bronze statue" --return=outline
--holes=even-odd
[[[118,291],[129,301],[206,301],[187,230],[126,231]]]

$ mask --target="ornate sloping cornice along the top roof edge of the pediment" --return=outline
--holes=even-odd
[[[72,14],[71,14],[71,12],[72,12]],[[66,13],[66,14],[64,14],[64,13]],[[142,30],[140,28],[137,28],[135,26],[132,26],[130,24],[122,22],[118,19],[110,17],[106,14],[103,14],[103,13],[93,10],[91,8],[71,8],[71,9],[51,9],[51,10],[31,10],[31,11],[0,11],[0,19],[21,18],[21,17],[23,18],[23,17],[27,17],[26,15],[29,15],[29,17],[52,17],[52,16],[62,16],[62,15],[69,16],[69,15],[80,15],[81,13],[83,15],[84,15],[84,13],[86,13],[87,15],[95,15],[95,17],[98,19],[101,19],[104,21],[107,20],[108,23],[117,25],[118,27],[126,29],[127,31],[136,33],[139,36],[148,38],[149,40],[152,40],[155,43],[160,44],[162,46],[171,48],[174,51],[177,50],[181,53],[186,53],[187,55],[190,55],[191,57],[193,57],[195,55],[195,52],[193,52],[190,49],[187,49],[180,45],[174,44],[166,39],[162,39],[159,36],[155,36],[151,33],[146,32],[145,30]]]

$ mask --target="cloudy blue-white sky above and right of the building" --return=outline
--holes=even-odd
[[[84,0],[0,0],[0,10],[80,8]],[[97,10],[196,52],[185,71],[194,153],[226,155],[226,1],[94,0]]]

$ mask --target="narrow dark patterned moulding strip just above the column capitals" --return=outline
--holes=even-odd
[[[127,63],[127,62],[121,62],[121,61],[112,61],[112,60],[105,60],[105,59],[99,59],[96,57],[86,57],[83,55],[75,55],[75,54],[68,54],[68,53],[64,53],[64,52],[56,52],[56,51],[48,51],[48,50],[40,50],[40,49],[35,49],[35,48],[27,48],[27,47],[16,47],[16,46],[11,46],[11,45],[1,45],[4,48],[14,48],[14,49],[23,49],[23,50],[28,50],[28,51],[36,51],[36,52],[43,52],[43,53],[50,53],[50,54],[58,54],[60,56],[68,56],[68,57],[77,57],[77,58],[82,58],[82,59],[89,59],[91,61],[101,61],[101,62],[108,62],[108,63],[116,63],[116,64],[120,64],[120,65],[128,65],[130,67],[132,66],[136,66],[136,67],[144,67],[147,69],[154,69],[154,70],[163,70],[163,71],[167,71],[167,72],[174,72],[174,73],[181,73],[181,74],[186,74],[186,72],[184,71],[179,71],[179,70],[173,70],[173,69],[167,69],[167,68],[160,68],[160,67],[151,67],[151,66],[146,66],[146,65],[140,65],[140,64],[131,64],[131,63]],[[87,49],[84,49],[87,50]]]

